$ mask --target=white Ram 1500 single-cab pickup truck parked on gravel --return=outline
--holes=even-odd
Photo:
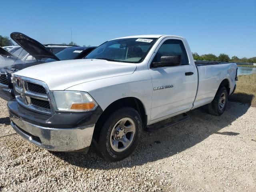
[[[210,114],[221,115],[236,72],[234,63],[195,63],[180,36],[116,38],[86,59],[14,73],[11,124],[47,150],[86,152],[92,145],[118,161],[132,153],[143,130],[154,131],[150,124],[206,104]]]

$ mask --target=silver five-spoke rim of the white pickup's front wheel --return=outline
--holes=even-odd
[[[123,152],[132,144],[136,133],[135,123],[131,118],[120,119],[112,129],[110,145],[116,152]]]

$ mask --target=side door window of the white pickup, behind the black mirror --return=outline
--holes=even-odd
[[[181,65],[189,64],[188,55],[183,42],[181,40],[176,40],[176,39],[166,40],[157,51],[152,62],[160,62],[161,56],[172,56],[172,55],[181,56]]]

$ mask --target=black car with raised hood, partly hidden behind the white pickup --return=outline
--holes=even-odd
[[[11,38],[20,45],[24,50],[26,50],[31,56],[36,60],[34,62],[24,62],[17,57],[9,54],[8,51],[0,49],[1,53],[6,51],[4,55],[5,59],[11,59],[12,61],[20,60],[20,62],[15,61],[11,66],[0,68],[0,97],[4,100],[11,100],[14,98],[14,90],[12,85],[12,74],[24,68],[46,63],[55,62],[60,60],[72,60],[72,59],[82,59],[87,54],[89,54],[96,47],[80,47],[80,46],[70,46],[64,50],[53,54],[48,48],[39,43],[38,41],[26,36],[25,34],[19,32],[13,32]],[[2,51],[4,50],[4,51]]]

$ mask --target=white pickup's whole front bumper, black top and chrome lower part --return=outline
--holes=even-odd
[[[9,101],[8,108],[11,125],[20,136],[38,147],[62,152],[78,151],[89,147],[96,120],[102,112],[101,109],[96,109],[89,114],[65,112],[47,116],[23,108],[16,100]],[[69,124],[67,124],[68,116]],[[63,119],[64,117],[66,119]]]

